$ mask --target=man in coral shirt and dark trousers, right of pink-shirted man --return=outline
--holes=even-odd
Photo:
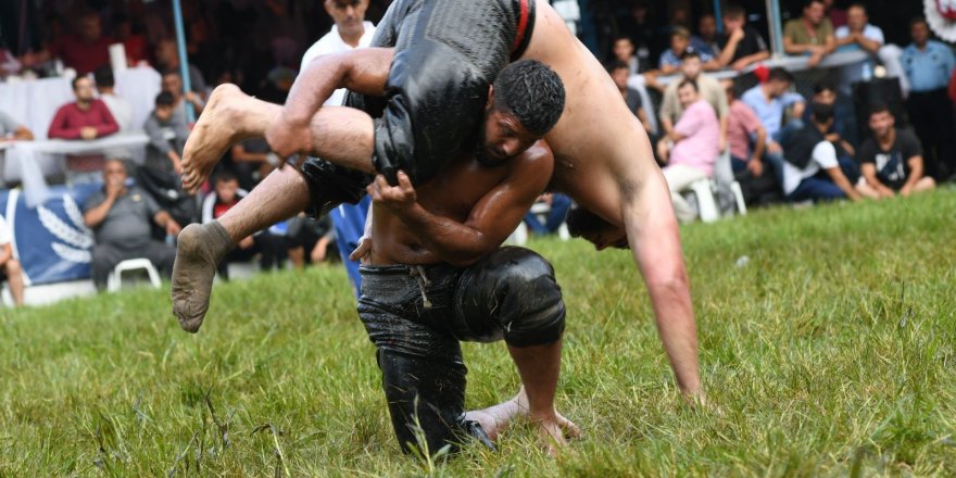
[[[779,200],[773,175],[765,172],[764,151],[767,129],[760,118],[738,98],[733,80],[721,81],[730,103],[727,114],[727,143],[734,179],[740,184],[747,204],[768,204]]]

